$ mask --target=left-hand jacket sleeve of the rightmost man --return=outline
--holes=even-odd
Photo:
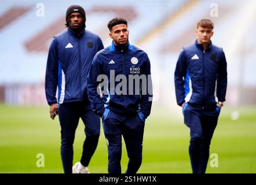
[[[177,65],[174,72],[175,94],[178,105],[185,102],[184,77],[186,73],[186,56],[182,50],[178,57]]]

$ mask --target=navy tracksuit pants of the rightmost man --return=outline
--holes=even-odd
[[[193,173],[205,173],[214,129],[217,126],[220,108],[202,108],[185,103],[184,123],[190,128],[189,156]]]

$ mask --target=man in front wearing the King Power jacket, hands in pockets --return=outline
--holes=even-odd
[[[123,135],[129,157],[126,173],[136,173],[142,162],[145,119],[152,105],[150,62],[144,51],[130,45],[125,19],[112,19],[108,28],[113,42],[93,59],[87,79],[88,98],[103,119],[108,172],[121,173]]]

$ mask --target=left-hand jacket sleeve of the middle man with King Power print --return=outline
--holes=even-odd
[[[97,91],[100,82],[97,82],[98,75],[101,75],[101,65],[98,61],[98,54],[93,58],[92,65],[90,66],[89,75],[87,77],[87,94],[89,101],[92,105],[93,111],[100,117],[104,113],[104,103],[101,101],[99,90]]]

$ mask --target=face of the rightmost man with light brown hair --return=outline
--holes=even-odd
[[[211,40],[211,36],[213,36],[213,29],[198,27],[196,28],[196,35],[198,36],[198,43],[207,44]]]

